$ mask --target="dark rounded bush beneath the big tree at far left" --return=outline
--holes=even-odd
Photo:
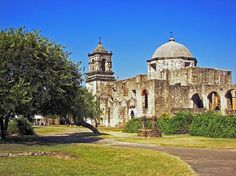
[[[18,134],[18,135],[33,135],[34,130],[28,119],[18,117],[17,119],[11,120],[8,124],[7,133]]]

